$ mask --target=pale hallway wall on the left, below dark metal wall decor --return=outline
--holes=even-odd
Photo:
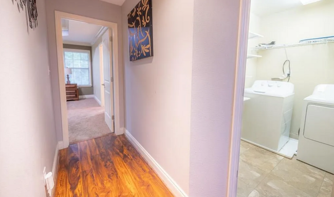
[[[38,27],[15,1],[0,6],[0,196],[45,197],[43,168],[52,171],[57,145],[45,0]],[[24,7],[26,9],[26,7]]]

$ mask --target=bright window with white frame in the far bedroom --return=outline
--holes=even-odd
[[[64,49],[65,68],[72,69],[72,75],[69,75],[71,83],[77,83],[78,86],[91,86],[90,74],[90,51],[77,49]],[[65,82],[67,76],[65,76]]]

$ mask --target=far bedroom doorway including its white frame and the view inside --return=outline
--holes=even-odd
[[[55,23],[64,148],[121,134],[117,24],[58,11]]]

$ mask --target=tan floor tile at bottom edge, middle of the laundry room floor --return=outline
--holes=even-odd
[[[256,187],[256,190],[259,193],[270,197],[312,197],[273,174],[269,174],[261,184]]]

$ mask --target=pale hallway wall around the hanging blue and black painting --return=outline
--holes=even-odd
[[[189,193],[193,1],[153,0],[154,57],[129,62],[122,6],[126,129]]]

